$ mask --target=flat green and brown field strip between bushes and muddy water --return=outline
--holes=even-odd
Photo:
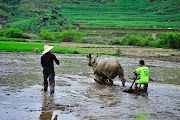
[[[35,43],[0,41],[1,52],[34,52],[36,48],[43,51],[44,44],[54,45],[54,53],[60,54],[102,54],[112,56],[144,57],[166,61],[180,62],[180,51],[176,49],[148,48],[137,46],[115,46],[83,43]]]

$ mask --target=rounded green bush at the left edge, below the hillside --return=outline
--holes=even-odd
[[[23,38],[24,33],[19,28],[4,28],[0,31],[0,36],[8,38]]]

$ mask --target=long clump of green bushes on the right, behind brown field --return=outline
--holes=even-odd
[[[162,32],[159,35],[154,36],[154,38],[152,35],[146,34],[128,34],[123,38],[112,39],[108,44],[180,49],[180,33]]]

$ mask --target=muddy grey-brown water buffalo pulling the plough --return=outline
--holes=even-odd
[[[113,85],[113,78],[117,75],[125,86],[124,71],[121,65],[113,59],[102,59],[89,54],[89,66],[93,67],[95,81],[100,84]]]

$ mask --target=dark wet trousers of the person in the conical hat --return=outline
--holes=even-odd
[[[54,73],[45,73],[44,76],[44,91],[48,89],[48,78],[49,78],[49,85],[50,85],[50,94],[54,93],[55,89],[55,74]]]

